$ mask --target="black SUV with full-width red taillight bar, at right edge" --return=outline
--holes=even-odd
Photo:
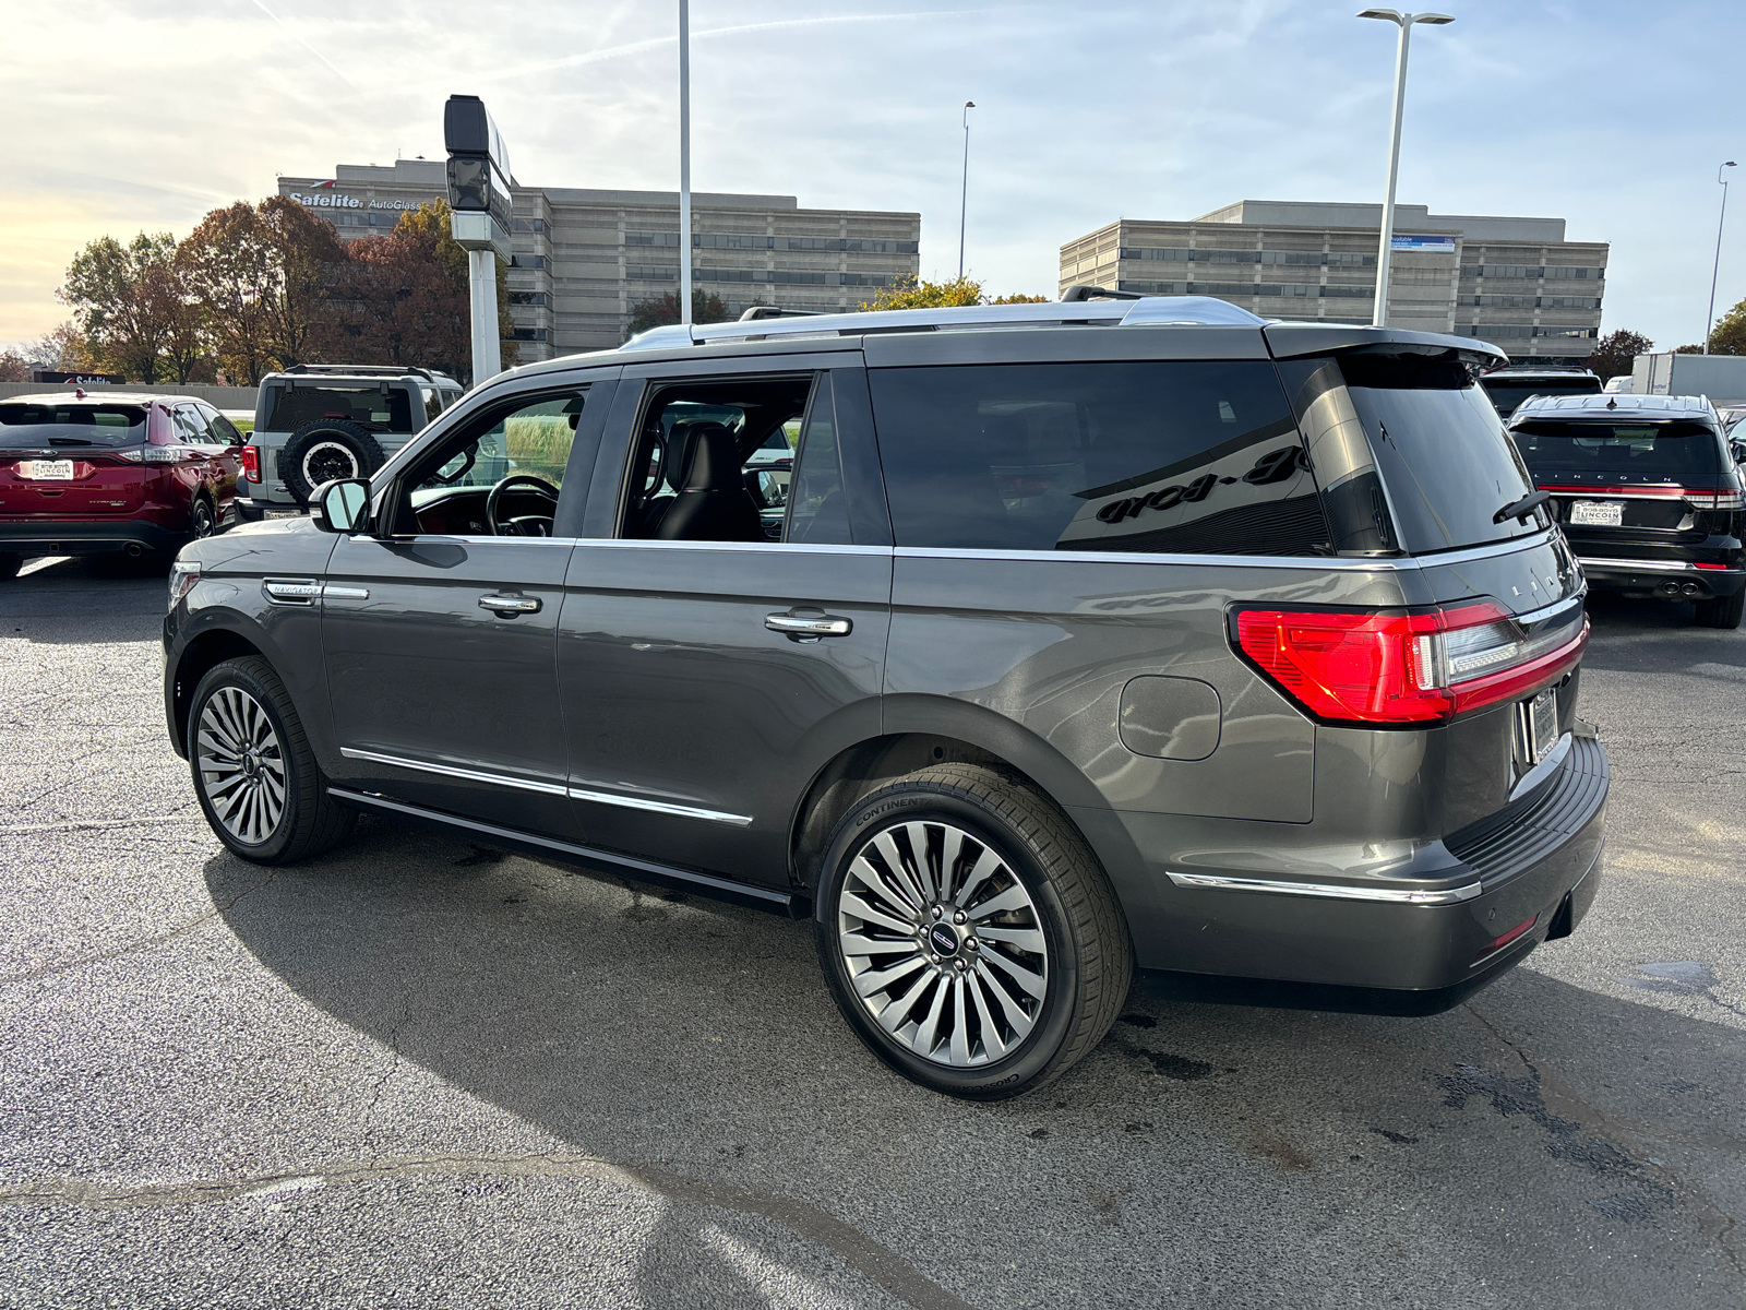
[[[1695,601],[1704,627],[1746,606],[1746,500],[1722,417],[1702,396],[1538,396],[1510,435],[1591,587]]]

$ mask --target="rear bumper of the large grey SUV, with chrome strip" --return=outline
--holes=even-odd
[[[1151,886],[1119,887],[1138,964],[1177,978],[1381,994],[1318,1008],[1435,1013],[1582,917],[1599,880],[1608,786],[1605,748],[1573,739],[1542,788],[1442,844],[1447,877],[1435,880],[1346,879],[1327,863],[1303,877],[1278,872],[1278,861],[1254,877],[1152,865]],[[1170,816],[1121,821],[1142,852],[1168,849]],[[1290,1004],[1278,987],[1261,990],[1266,1004]]]

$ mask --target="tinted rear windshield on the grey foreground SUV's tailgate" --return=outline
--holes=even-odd
[[[1467,365],[1344,355],[1341,374],[1409,554],[1507,541],[1545,527],[1538,514],[1493,522],[1533,480]]]

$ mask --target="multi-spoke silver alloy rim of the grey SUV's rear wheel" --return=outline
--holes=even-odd
[[[950,823],[885,828],[849,863],[836,903],[849,983],[917,1055],[973,1067],[1013,1053],[1049,983],[1042,919],[997,851]]]

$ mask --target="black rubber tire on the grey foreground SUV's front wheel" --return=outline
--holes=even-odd
[[[232,721],[230,711],[244,697],[264,716],[271,728],[271,742],[276,749],[260,753],[260,762],[251,776],[265,774],[267,762],[276,762],[283,776],[283,800],[271,823],[262,823],[264,831],[250,831],[246,821],[236,817],[234,796],[237,791],[225,791],[225,774],[217,769],[203,769],[222,763],[225,751],[217,737],[203,732],[206,707],[218,700],[215,709],[220,723]],[[285,692],[285,683],[258,655],[225,660],[201,678],[194,688],[194,700],[189,707],[189,772],[194,779],[194,795],[201,803],[206,823],[225,844],[230,854],[255,865],[295,865],[299,859],[321,854],[328,847],[344,840],[358,819],[356,810],[340,805],[328,795],[328,781],[316,763],[309,737],[297,718],[292,697]],[[255,737],[257,734],[248,734]],[[236,770],[230,770],[234,777]],[[244,781],[246,788],[248,783]],[[215,805],[227,807],[225,816]],[[241,830],[241,831],[239,831]]]

